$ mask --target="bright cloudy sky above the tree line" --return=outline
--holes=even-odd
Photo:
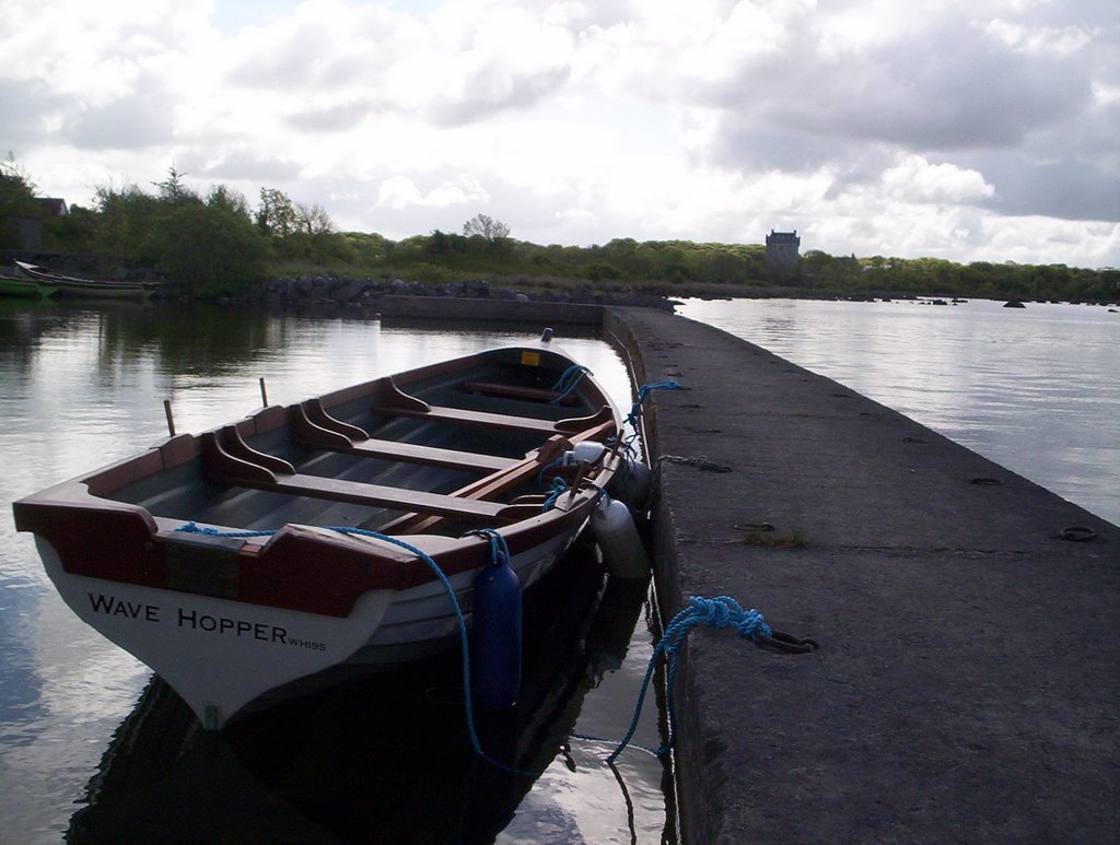
[[[393,240],[1120,266],[1117,0],[0,0],[43,196],[174,167]]]

